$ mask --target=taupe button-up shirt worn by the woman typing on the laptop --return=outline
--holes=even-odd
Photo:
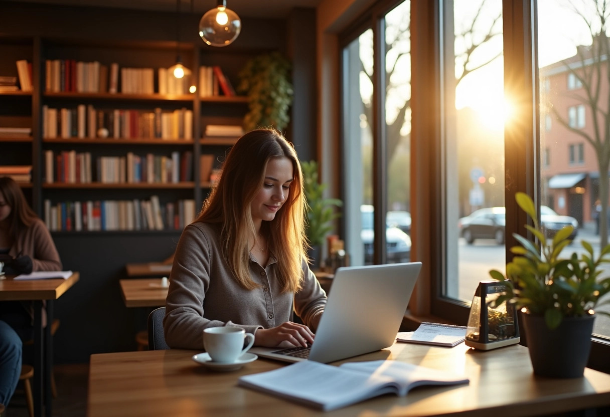
[[[163,319],[171,348],[203,349],[206,327],[237,326],[249,333],[276,327],[293,319],[293,309],[307,326],[317,323],[326,293],[305,260],[303,288],[293,294],[281,292],[274,258],[263,268],[251,256],[250,275],[260,288],[246,290],[234,279],[221,247],[219,225],[193,223],[182,232]]]

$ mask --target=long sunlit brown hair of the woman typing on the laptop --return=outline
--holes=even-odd
[[[235,143],[196,221],[222,224],[223,255],[235,279],[245,288],[259,287],[248,268],[250,246],[256,239],[250,205],[263,187],[267,163],[273,158],[292,162],[293,180],[284,205],[272,221],[263,222],[261,231],[278,260],[282,290],[296,292],[303,281],[301,261],[306,256],[303,177],[295,149],[277,130],[252,130]]]

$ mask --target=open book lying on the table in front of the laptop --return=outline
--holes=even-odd
[[[237,385],[330,411],[383,394],[405,396],[420,385],[467,382],[463,375],[393,360],[348,362],[340,366],[306,360],[242,376]]]

